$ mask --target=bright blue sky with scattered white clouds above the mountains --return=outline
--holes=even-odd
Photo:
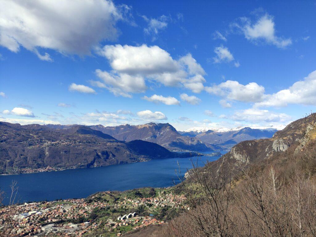
[[[0,120],[278,126],[315,111],[315,1],[1,1]]]

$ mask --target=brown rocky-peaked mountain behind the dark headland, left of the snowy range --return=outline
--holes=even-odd
[[[89,126],[92,129],[107,133],[118,140],[143,140],[157,143],[169,150],[211,151],[211,145],[205,145],[200,139],[183,136],[169,123],[147,123],[143,125],[120,125],[104,127],[102,125]]]

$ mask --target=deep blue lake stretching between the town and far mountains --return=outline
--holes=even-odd
[[[124,191],[139,187],[169,187],[179,182],[175,170],[180,165],[182,176],[191,169],[219,157],[153,159],[148,162],[110,165],[96,168],[67,169],[21,175],[0,175],[0,188],[9,193],[12,180],[17,181],[19,202],[85,198],[98,191]],[[3,201],[8,203],[8,198]]]

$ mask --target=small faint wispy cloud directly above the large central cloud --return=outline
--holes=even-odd
[[[158,18],[148,18],[147,16],[143,15],[143,19],[148,23],[148,26],[144,28],[145,34],[152,35],[152,41],[157,39],[157,35],[159,31],[162,29],[167,28],[169,17],[162,15]]]

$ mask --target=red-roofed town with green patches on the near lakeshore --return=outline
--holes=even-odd
[[[148,225],[164,224],[185,206],[174,188],[101,192],[88,198],[33,202],[0,209],[0,229],[11,220],[8,237],[121,236]],[[169,216],[171,217],[171,216]]]

